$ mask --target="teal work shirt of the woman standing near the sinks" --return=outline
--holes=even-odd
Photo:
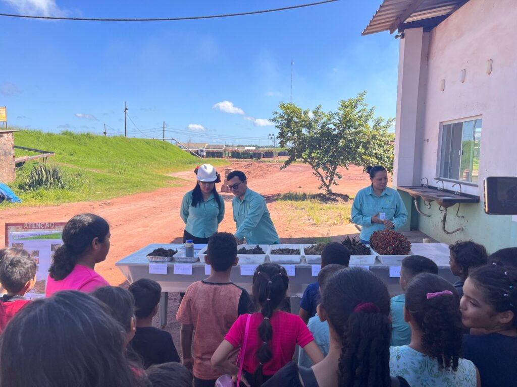
[[[372,216],[381,212],[386,213],[386,220],[393,222],[395,230],[406,223],[406,206],[396,189],[386,187],[381,196],[377,196],[370,185],[357,192],[352,205],[352,221],[362,226],[361,239],[370,240],[374,231],[385,229],[384,224],[372,223]]]

